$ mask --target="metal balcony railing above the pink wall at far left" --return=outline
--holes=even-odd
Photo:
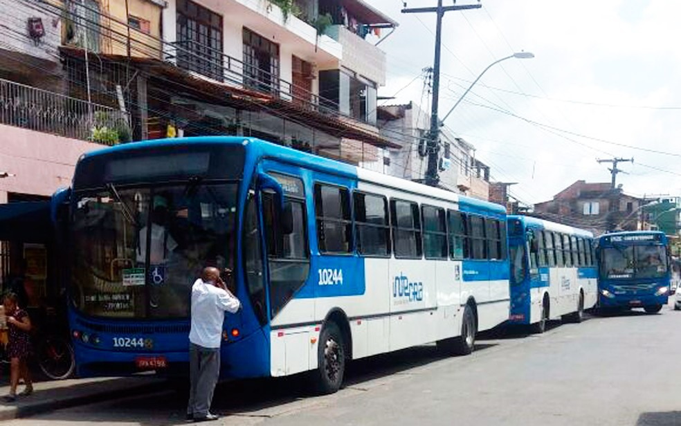
[[[124,115],[114,108],[0,79],[0,124],[112,143],[98,140],[96,129],[116,129],[122,122]]]

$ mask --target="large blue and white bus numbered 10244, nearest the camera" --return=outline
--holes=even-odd
[[[244,302],[221,378],[311,371],[333,392],[346,360],[426,342],[470,353],[508,318],[503,207],[262,140],[87,154],[68,222],[81,376],[185,374],[206,265],[232,269]]]

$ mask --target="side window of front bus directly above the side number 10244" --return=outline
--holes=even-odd
[[[352,252],[352,216],[347,188],[314,185],[317,241],[322,253]]]

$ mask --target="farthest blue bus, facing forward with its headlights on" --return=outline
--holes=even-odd
[[[601,235],[597,240],[599,308],[660,312],[671,285],[668,244],[659,231]]]

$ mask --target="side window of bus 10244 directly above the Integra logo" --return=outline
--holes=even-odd
[[[390,200],[392,241],[395,257],[421,259],[421,218],[419,205],[409,201]]]

